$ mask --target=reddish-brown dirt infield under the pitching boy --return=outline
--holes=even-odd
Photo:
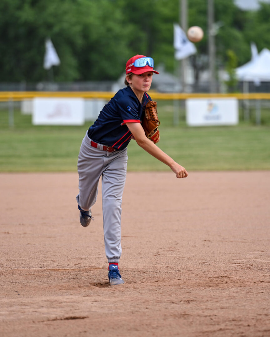
[[[1,337],[270,336],[270,172],[128,173],[114,287],[77,186],[0,174]]]

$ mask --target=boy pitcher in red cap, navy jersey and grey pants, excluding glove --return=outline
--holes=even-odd
[[[127,174],[127,146],[131,139],[149,154],[168,165],[177,178],[186,178],[186,169],[145,136],[141,126],[143,109],[151,97],[154,60],[135,55],[126,64],[126,87],[104,106],[98,119],[87,130],[78,156],[79,194],[82,226],[89,225],[91,207],[102,178],[102,205],[105,252],[111,285],[124,283],[119,273],[121,256],[121,203]]]

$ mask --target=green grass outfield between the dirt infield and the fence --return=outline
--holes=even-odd
[[[262,125],[254,118],[238,126],[188,127],[181,111],[173,126],[173,107],[158,102],[161,141],[158,146],[188,171],[269,170],[270,111],[262,111]],[[240,116],[241,117],[241,116]],[[0,110],[0,172],[73,172],[82,138],[91,125],[33,126],[31,116],[14,113],[8,126],[7,110]],[[129,171],[166,171],[169,168],[142,150],[128,146]]]

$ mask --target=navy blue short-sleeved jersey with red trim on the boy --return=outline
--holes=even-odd
[[[88,136],[94,142],[116,150],[125,149],[132,137],[126,123],[141,123],[143,108],[150,100],[151,97],[144,93],[141,104],[129,86],[119,90],[89,127]]]

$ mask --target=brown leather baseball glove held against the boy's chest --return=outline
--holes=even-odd
[[[146,137],[155,144],[159,141],[159,125],[160,121],[157,113],[157,102],[149,101],[145,105],[142,127]]]

